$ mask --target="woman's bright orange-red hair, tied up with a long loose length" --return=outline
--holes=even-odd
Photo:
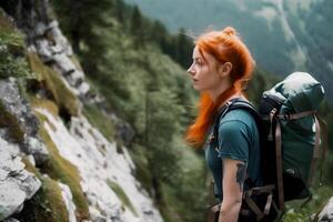
[[[218,108],[235,93],[242,93],[246,83],[252,77],[254,60],[242,42],[235,30],[226,27],[222,31],[210,31],[201,34],[195,41],[200,53],[203,51],[215,58],[218,62],[224,64],[232,63],[230,72],[232,85],[219,95],[216,101],[212,101],[206,92],[202,92],[199,101],[199,113],[186,132],[186,142],[201,147],[206,138],[206,131],[213,122]]]

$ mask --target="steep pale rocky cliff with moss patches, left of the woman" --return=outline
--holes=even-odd
[[[0,6],[0,220],[162,221],[128,149],[84,117],[83,104],[103,98],[91,93],[48,0]],[[113,113],[104,118],[133,137]]]

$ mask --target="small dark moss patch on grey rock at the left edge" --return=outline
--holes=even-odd
[[[21,129],[18,119],[7,111],[0,101],[0,128],[7,128],[9,137],[13,142],[22,142],[24,139],[24,131]]]

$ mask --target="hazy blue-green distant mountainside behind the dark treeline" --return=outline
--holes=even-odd
[[[325,87],[333,102],[332,9],[330,0],[127,0],[137,3],[172,31],[200,33],[208,27],[235,27],[258,64],[280,75],[307,71]],[[175,7],[176,6],[176,7]]]

